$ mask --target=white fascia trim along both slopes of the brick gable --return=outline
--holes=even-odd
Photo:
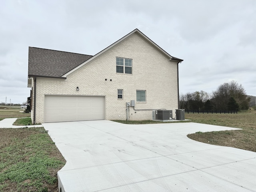
[[[159,50],[160,52],[162,52],[164,55],[166,55],[168,58],[172,59],[172,56],[170,56],[166,51],[164,51],[162,48],[160,48],[157,44],[155,44],[152,40],[150,40],[150,38],[148,38],[146,35],[144,35],[142,32],[140,32],[140,30],[135,29],[132,32],[130,32],[129,34],[127,34],[126,36],[124,36],[123,38],[121,38],[120,40],[114,42],[113,44],[111,44],[110,46],[108,46],[107,48],[105,48],[104,50],[102,50],[101,52],[97,53],[96,55],[94,55],[92,58],[86,60],[84,63],[80,64],[79,66],[77,66],[76,68],[72,69],[71,71],[67,72],[66,74],[64,74],[62,77],[67,77],[69,74],[71,74],[72,72],[74,72],[75,70],[79,69],[80,67],[84,66],[85,64],[87,64],[88,62],[90,62],[91,60],[94,60],[95,58],[97,58],[98,56],[100,56],[101,54],[103,54],[104,52],[106,52],[107,50],[111,49],[112,47],[114,47],[116,44],[120,43],[122,40],[128,38],[129,36],[131,36],[134,33],[138,33],[140,34],[140,36],[142,36],[145,40],[147,40],[150,44],[152,44],[157,50]]]

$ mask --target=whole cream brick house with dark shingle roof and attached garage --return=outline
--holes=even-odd
[[[32,122],[152,120],[153,109],[174,111],[181,61],[138,29],[94,56],[29,47]]]

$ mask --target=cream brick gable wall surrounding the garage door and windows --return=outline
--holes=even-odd
[[[116,73],[116,57],[132,59],[132,74]],[[118,89],[123,90],[122,100],[117,98]],[[126,120],[126,102],[136,101],[136,90],[146,90],[146,102],[135,102],[135,109],[178,108],[177,62],[134,33],[66,80],[37,78],[36,122],[44,122],[45,94],[105,96],[106,120]],[[152,111],[135,112],[130,107],[130,120],[150,119]]]

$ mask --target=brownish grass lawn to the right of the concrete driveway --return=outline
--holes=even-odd
[[[238,114],[185,114],[192,122],[242,128],[242,130],[197,132],[188,138],[196,141],[240,148],[256,152],[256,112],[252,110]]]

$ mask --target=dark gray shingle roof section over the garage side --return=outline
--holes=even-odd
[[[28,76],[58,78],[91,57],[91,55],[29,47]]]

